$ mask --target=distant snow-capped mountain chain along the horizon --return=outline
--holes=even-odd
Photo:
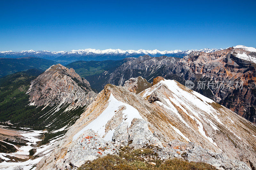
[[[185,55],[188,55],[191,51],[203,51],[206,53],[214,52],[220,49],[209,49],[204,48],[200,50],[191,49],[186,51],[181,50],[164,50],[159,51],[157,49],[155,50],[122,50],[122,49],[105,49],[105,50],[99,50],[99,49],[79,49],[79,50],[71,50],[71,51],[34,51],[34,50],[26,50],[26,51],[19,51],[19,52],[13,52],[13,51],[1,51],[0,57],[4,58],[19,58],[19,57],[26,57],[26,56],[33,56],[33,57],[39,57],[39,58],[45,58],[57,61],[59,63],[70,63],[78,60],[85,60],[85,61],[91,61],[91,60],[121,60],[126,57],[139,57],[141,55],[149,55],[152,57],[159,57],[162,55],[167,56],[173,56],[173,57],[183,57]]]

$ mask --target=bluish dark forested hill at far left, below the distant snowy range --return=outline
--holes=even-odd
[[[53,64],[57,63],[36,57],[0,58],[0,77],[33,68],[46,70]]]

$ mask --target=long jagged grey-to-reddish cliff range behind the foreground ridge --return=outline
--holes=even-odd
[[[232,111],[246,118],[256,121],[256,88],[255,88],[255,61],[256,52],[244,46],[236,46],[212,53],[191,52],[183,59],[175,57],[140,56],[128,61],[113,72],[101,75],[99,79],[106,78],[107,83],[124,85],[129,78],[142,76],[152,82],[153,78],[162,76],[166,79],[175,79],[185,85],[186,80],[196,85],[193,90],[211,98],[212,100],[230,108]],[[256,49],[255,49],[256,50]],[[245,60],[246,59],[246,60]],[[197,89],[198,81],[205,81],[205,89]],[[218,82],[233,82],[233,87],[222,88]],[[214,85],[207,86],[208,82]],[[243,88],[235,88],[236,82],[243,82]]]

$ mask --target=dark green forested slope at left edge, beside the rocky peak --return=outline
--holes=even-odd
[[[36,113],[34,106],[26,107],[29,104],[26,92],[31,81],[41,73],[40,70],[31,69],[0,78],[0,122],[22,122],[27,115],[31,116],[29,110]]]

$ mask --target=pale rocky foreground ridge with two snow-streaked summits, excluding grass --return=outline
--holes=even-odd
[[[155,145],[170,158],[177,154],[175,139],[200,146],[184,151],[189,161],[211,160],[214,166],[235,169],[250,169],[240,160],[256,164],[256,127],[251,122],[174,80],[154,82],[138,95],[127,86],[106,85],[37,169],[76,168],[118,154],[117,147],[127,144]]]

